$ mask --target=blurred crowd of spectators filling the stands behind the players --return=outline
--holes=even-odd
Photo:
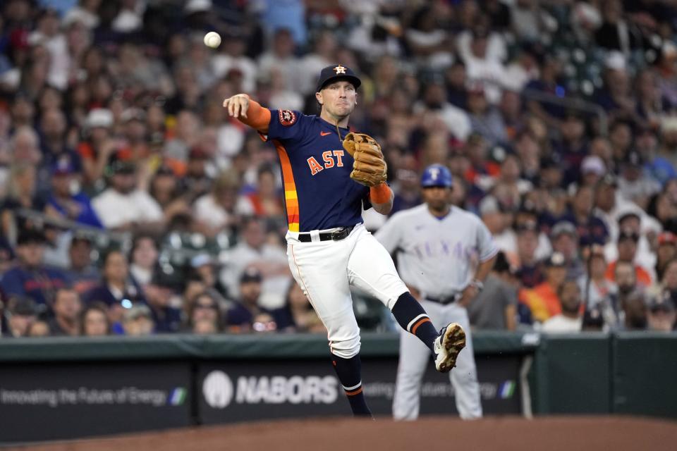
[[[322,333],[274,148],[221,102],[317,113],[333,63],[393,212],[443,163],[493,233],[475,328],[672,330],[676,27],[674,0],[4,0],[2,335]]]

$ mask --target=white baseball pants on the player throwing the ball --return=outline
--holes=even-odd
[[[319,237],[319,232],[311,234]],[[392,310],[398,297],[408,291],[393,259],[361,223],[343,240],[300,242],[294,232],[288,232],[286,238],[291,273],[327,328],[332,354],[350,359],[360,352],[360,328],[353,314],[350,285]],[[430,351],[423,347],[429,356]]]

